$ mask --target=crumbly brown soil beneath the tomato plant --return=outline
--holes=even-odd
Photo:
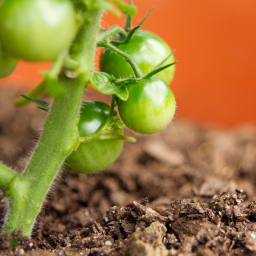
[[[46,113],[15,108],[18,94],[0,89],[0,160],[20,171]],[[62,170],[33,237],[0,236],[0,255],[256,255],[255,127],[177,119],[157,134],[132,135],[137,142],[106,170]]]

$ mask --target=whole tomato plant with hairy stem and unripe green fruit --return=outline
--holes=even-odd
[[[126,14],[125,29],[117,25],[99,29],[105,9],[118,11],[111,1]],[[14,64],[10,68],[9,57],[53,60],[42,81],[16,101],[18,106],[34,102],[48,114],[22,172],[0,162],[0,188],[8,200],[2,225],[6,235],[14,229],[22,229],[22,235],[31,235],[43,200],[61,166],[86,173],[102,170],[118,157],[123,140],[135,142],[134,138],[123,135],[125,124],[148,134],[165,127],[173,117],[175,99],[165,83],[173,75],[173,52],[158,36],[137,30],[145,18],[131,28],[134,13],[131,1],[127,5],[121,0],[1,3],[0,42],[4,52],[0,55],[1,76],[14,68]],[[92,72],[96,47],[107,48],[101,61],[101,70],[106,72]],[[98,101],[82,103],[89,82],[101,93],[112,95],[110,107]],[[37,98],[44,91],[53,97],[51,103]],[[116,105],[125,124],[116,118]],[[14,242],[17,240],[11,240],[10,244]]]

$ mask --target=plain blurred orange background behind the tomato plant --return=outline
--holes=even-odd
[[[128,2],[128,1],[126,1]],[[176,73],[170,88],[176,117],[233,126],[256,124],[256,1],[133,0],[138,8],[133,25],[155,6],[142,28],[175,49]],[[124,16],[105,13],[102,26],[123,25]],[[41,79],[38,69],[49,63],[20,61],[0,80],[29,89]]]

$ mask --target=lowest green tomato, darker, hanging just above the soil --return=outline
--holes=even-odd
[[[110,107],[103,102],[83,102],[78,123],[80,136],[85,137],[97,132],[106,122],[109,110]],[[118,129],[116,132],[123,134],[122,129]],[[101,171],[116,160],[122,150],[122,145],[123,140],[119,139],[81,143],[67,157],[66,166],[75,172],[93,173]]]

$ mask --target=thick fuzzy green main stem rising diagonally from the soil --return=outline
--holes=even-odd
[[[24,172],[10,183],[5,233],[22,228],[30,235],[43,200],[66,156],[78,145],[79,109],[89,76],[93,70],[96,35],[102,10],[89,13],[72,45],[70,55],[79,63],[79,75],[70,79],[59,75],[66,93],[54,98],[39,142]]]

